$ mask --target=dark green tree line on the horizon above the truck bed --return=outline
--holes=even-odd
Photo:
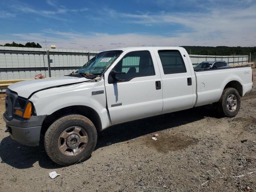
[[[228,46],[182,46],[192,55],[250,55],[251,61],[256,60],[256,47],[228,47]]]

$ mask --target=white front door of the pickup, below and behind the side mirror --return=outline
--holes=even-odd
[[[148,50],[126,53],[112,69],[124,72],[118,74],[122,82],[111,82],[111,72],[106,73],[106,97],[112,125],[161,114],[162,80],[156,57],[151,54],[154,52]]]

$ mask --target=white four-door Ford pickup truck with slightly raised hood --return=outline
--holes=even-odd
[[[3,118],[12,139],[37,146],[42,134],[48,156],[70,165],[115,124],[206,104],[234,117],[252,77],[250,67],[194,71],[181,47],[118,48],[67,76],[10,85]]]

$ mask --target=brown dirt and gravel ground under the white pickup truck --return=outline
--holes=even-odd
[[[256,80],[234,118],[208,105],[113,126],[99,133],[87,161],[68,167],[53,163],[43,145],[23,146],[4,130],[1,118],[1,192],[256,191]],[[61,175],[51,179],[52,171]]]

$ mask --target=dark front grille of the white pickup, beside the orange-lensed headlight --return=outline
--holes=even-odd
[[[6,90],[6,98],[5,98],[5,109],[6,109],[6,118],[8,120],[12,120],[14,113],[14,105],[18,98],[18,94],[11,91],[10,89]]]

